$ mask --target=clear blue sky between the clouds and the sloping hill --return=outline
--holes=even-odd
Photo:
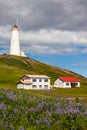
[[[87,54],[76,55],[37,55],[27,54],[29,57],[38,61],[57,66],[59,68],[68,69],[87,77]]]

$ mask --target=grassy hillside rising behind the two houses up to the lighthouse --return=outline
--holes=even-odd
[[[81,82],[87,79],[79,74],[47,65],[28,57],[0,55],[0,85],[15,86],[24,74],[43,74],[51,78],[51,84],[58,76],[76,76]]]

